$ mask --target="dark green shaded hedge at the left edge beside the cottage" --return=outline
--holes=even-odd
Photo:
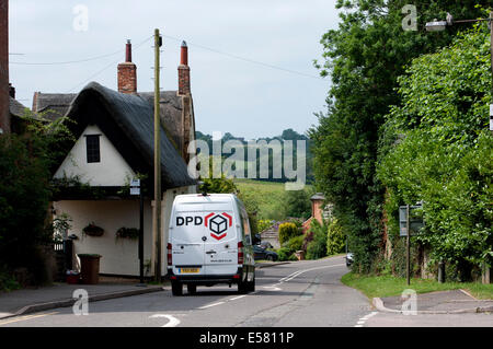
[[[71,136],[62,120],[46,126],[26,117],[25,129],[0,137],[0,265],[5,272],[27,268],[39,283],[45,275],[37,247],[54,233],[47,220],[51,170]]]

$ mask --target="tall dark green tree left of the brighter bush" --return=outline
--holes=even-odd
[[[425,22],[445,19],[447,11],[456,19],[482,15],[480,9],[459,1],[414,1],[419,31],[405,32],[402,7],[406,3],[337,1],[341,23],[323,35],[323,62],[314,62],[321,75],[330,74],[332,80],[328,112],[318,115],[319,125],[309,132],[317,186],[334,205],[334,216],[348,233],[355,267],[362,271],[369,271],[381,252],[385,186],[376,176],[376,165],[385,115],[401,101],[398,77],[413,58],[448,45],[460,27],[427,33]]]

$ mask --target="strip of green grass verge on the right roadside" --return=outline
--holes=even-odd
[[[375,296],[385,298],[400,295],[405,289],[413,289],[416,293],[427,293],[435,291],[448,291],[462,289],[481,300],[493,300],[493,284],[478,282],[445,282],[439,283],[428,279],[411,279],[411,286],[406,284],[405,278],[392,276],[366,276],[348,272],[341,278],[341,281],[355,288],[369,299]]]

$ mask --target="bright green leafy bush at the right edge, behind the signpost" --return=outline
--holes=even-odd
[[[446,260],[465,279],[493,253],[489,35],[479,25],[413,61],[399,79],[402,105],[387,117],[378,166],[389,232],[398,234],[399,205],[423,200],[416,241],[431,247],[432,263]]]

